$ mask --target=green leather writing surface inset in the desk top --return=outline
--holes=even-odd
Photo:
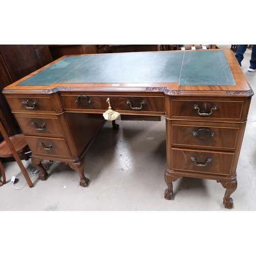
[[[161,83],[235,86],[223,51],[70,56],[18,86],[53,83]]]

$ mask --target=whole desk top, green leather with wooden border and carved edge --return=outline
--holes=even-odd
[[[3,93],[73,90],[253,94],[229,49],[63,56],[6,87]]]

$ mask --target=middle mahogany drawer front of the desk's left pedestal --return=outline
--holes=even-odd
[[[57,118],[16,116],[24,134],[63,135]]]

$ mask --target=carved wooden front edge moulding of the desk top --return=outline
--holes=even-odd
[[[48,90],[40,89],[4,89],[3,94],[54,94],[57,92],[162,92],[165,95],[174,96],[232,96],[232,97],[250,97],[254,94],[250,85],[248,91],[193,91],[193,90],[170,90],[167,87],[55,87]]]

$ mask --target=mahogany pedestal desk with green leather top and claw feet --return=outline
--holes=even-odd
[[[166,118],[167,184],[182,177],[212,179],[237,188],[236,168],[251,90],[229,49],[63,56],[3,90],[47,179],[41,160],[68,163],[86,187],[86,150],[112,109],[121,115]],[[113,122],[113,128],[118,125]]]

